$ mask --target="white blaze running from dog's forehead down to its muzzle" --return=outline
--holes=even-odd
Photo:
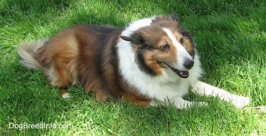
[[[175,35],[171,32],[171,30],[165,29],[165,28],[163,28],[163,30],[166,32],[168,37],[171,39],[173,46],[176,47],[177,49],[177,56],[176,56],[177,63],[174,64],[173,67],[178,70],[183,70],[183,71],[188,70],[184,67],[184,63],[186,60],[192,60],[192,57],[189,55],[189,53],[184,48],[184,46],[182,46],[181,43],[177,41]]]

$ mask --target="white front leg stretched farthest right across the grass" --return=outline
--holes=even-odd
[[[216,88],[214,86],[211,86],[201,81],[196,81],[192,85],[192,87],[193,87],[192,91],[194,91],[195,93],[198,93],[200,95],[207,95],[207,96],[218,96],[221,100],[230,102],[231,104],[239,108],[247,106],[250,102],[249,97],[243,97],[243,96],[231,94],[227,91]]]

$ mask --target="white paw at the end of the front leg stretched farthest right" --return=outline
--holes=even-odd
[[[249,97],[244,97],[244,96],[238,96],[234,95],[232,97],[231,103],[235,105],[238,108],[243,108],[245,106],[248,106],[250,103],[250,98]]]

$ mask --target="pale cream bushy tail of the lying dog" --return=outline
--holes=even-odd
[[[41,68],[42,65],[34,59],[33,55],[36,53],[38,48],[44,45],[46,41],[48,41],[48,39],[34,41],[31,43],[20,43],[17,47],[17,53],[22,59],[20,62],[28,68]]]

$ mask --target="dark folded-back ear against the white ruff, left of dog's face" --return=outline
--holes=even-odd
[[[129,41],[131,42],[133,45],[144,45],[145,40],[142,37],[142,33],[138,32],[138,33],[134,33],[131,36],[120,36],[121,39],[125,40],[125,41]]]

